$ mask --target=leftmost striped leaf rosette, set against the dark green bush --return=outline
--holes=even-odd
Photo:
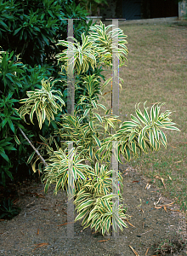
[[[36,113],[40,129],[42,129],[42,124],[45,119],[48,119],[49,125],[50,121],[54,120],[54,115],[57,114],[58,111],[62,111],[59,103],[61,103],[61,105],[65,105],[65,102],[61,98],[62,93],[59,90],[52,90],[55,83],[54,81],[51,85],[52,80],[52,78],[48,80],[42,79],[42,89],[27,91],[26,94],[28,98],[20,100],[20,103],[24,104],[18,111],[20,113],[20,117],[25,119],[25,115],[29,114],[31,123],[34,124],[33,117],[34,113]]]

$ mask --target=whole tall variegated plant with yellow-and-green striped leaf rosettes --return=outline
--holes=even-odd
[[[87,36],[82,34],[82,44],[76,39],[74,43],[59,41],[59,44],[68,47],[57,55],[62,63],[62,71],[73,73],[74,69],[75,73],[80,74],[79,78],[82,80],[76,81],[75,86],[77,88],[78,82],[82,83],[82,96],[74,114],[64,114],[61,117],[58,123],[60,128],[54,133],[54,136],[59,137],[61,145],[56,145],[55,151],[47,147],[48,164],[43,171],[45,191],[51,183],[56,184],[55,193],[59,189],[69,190],[68,192],[71,190],[78,212],[76,220],[82,219],[84,228],[90,226],[103,235],[110,232],[111,225],[112,231],[116,231],[117,227],[121,230],[122,227],[127,227],[124,223],[124,219],[128,217],[126,208],[122,203],[118,205],[118,201],[113,201],[119,197],[122,202],[122,176],[120,172],[110,169],[112,147],[115,148],[116,160],[121,161],[121,155],[130,160],[139,152],[148,153],[149,148],[150,151],[159,150],[161,144],[166,147],[164,129],[179,131],[169,118],[170,111],[160,113],[160,104],[152,106],[150,115],[145,105],[143,113],[138,105],[135,109],[136,117],[131,115],[131,121],[123,122],[119,128],[118,123],[121,121],[118,117],[109,114],[109,110],[99,104],[98,96],[102,96],[103,88],[111,79],[101,84],[96,75],[86,74],[88,68],[92,67],[94,70],[97,65],[111,67],[112,52],[116,53],[120,65],[127,61],[126,36],[119,28],[109,31],[110,28],[111,26],[105,27],[102,22],[92,26]],[[117,38],[118,43],[114,44]],[[20,108],[20,115],[24,118],[29,113],[32,122],[36,112],[40,128],[45,118],[50,122],[54,119],[54,113],[60,111],[61,107],[56,101],[64,104],[59,91],[51,90],[50,80],[42,81],[42,90],[28,92],[27,95],[29,98],[22,100],[25,105]],[[79,105],[82,106],[83,113],[79,113]],[[98,108],[103,108],[105,115],[99,115]],[[73,149],[68,155],[65,140],[74,142],[74,156]],[[119,188],[112,182],[116,172],[121,185]]]

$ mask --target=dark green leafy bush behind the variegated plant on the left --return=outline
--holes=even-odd
[[[52,76],[58,80],[54,90],[65,98],[65,83],[60,82],[65,74],[59,74],[54,58],[59,52],[56,43],[67,37],[67,20],[63,19],[81,19],[74,20],[74,35],[80,40],[82,32],[87,32],[90,26],[86,15],[72,0],[0,1],[0,183],[3,186],[6,180],[21,180],[33,174],[27,163],[32,149],[19,128],[36,148],[41,147],[39,133],[48,138],[57,128],[54,121],[48,127],[46,120],[40,131],[36,117],[34,125],[28,122],[23,125],[16,109],[27,91],[40,90],[42,79]],[[76,103],[79,94],[76,94]],[[65,106],[61,113],[66,113]],[[55,120],[59,120],[59,113],[55,114]]]

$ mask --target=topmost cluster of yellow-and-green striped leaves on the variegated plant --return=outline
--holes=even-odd
[[[112,67],[112,55],[115,53],[120,66],[127,62],[127,38],[122,29],[115,28],[110,31],[111,26],[105,26],[102,21],[100,25],[90,27],[89,35],[82,34],[82,45],[77,39],[72,38],[75,43],[60,40],[59,44],[67,47],[62,53],[56,55],[58,61],[62,61],[61,68],[69,71],[84,73],[89,66],[94,70],[97,60],[99,64]]]

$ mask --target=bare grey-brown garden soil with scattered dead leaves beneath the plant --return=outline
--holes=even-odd
[[[51,186],[44,194],[42,183],[26,182],[14,201],[20,214],[0,222],[0,255],[187,255],[186,220],[178,206],[131,166],[120,165],[120,170],[131,218],[119,236],[101,236],[76,222],[75,236],[67,238],[65,192],[54,195]]]

